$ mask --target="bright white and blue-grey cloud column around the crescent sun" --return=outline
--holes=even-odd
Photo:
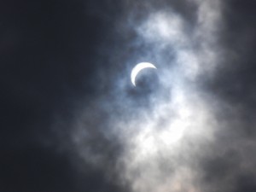
[[[222,13],[220,3],[193,3],[198,7],[193,13],[197,18],[192,23],[195,26],[182,13],[154,9],[150,3],[140,12],[132,7],[127,11],[129,14],[120,17],[116,37],[122,49],[113,46],[104,54],[108,55],[108,62],[123,67],[112,72],[116,79],[110,82],[114,85],[105,97],[91,101],[96,103],[93,109],[85,109],[81,118],[85,119],[82,120],[84,131],[81,128],[74,132],[76,138],[81,138],[75,141],[79,143],[82,158],[102,167],[108,175],[118,172],[119,182],[130,183],[132,191],[200,191],[201,188],[203,171],[197,161],[204,159],[207,143],[214,143],[219,125],[212,109],[218,103],[201,90],[200,81],[211,76],[219,63],[217,39]],[[137,92],[131,86],[131,67],[143,60],[152,61],[158,67],[158,93],[154,89]],[[94,109],[99,106],[101,109]],[[108,119],[97,118],[97,114],[91,113],[94,110],[108,113]],[[96,130],[91,132],[87,126]],[[92,142],[88,151],[85,143],[90,137],[103,148],[97,150]],[[102,144],[105,138],[108,143]],[[120,151],[115,148],[108,151],[115,142],[122,146],[121,153],[116,154]],[[109,171],[108,160],[104,158],[112,153],[115,154],[108,159],[113,160]]]

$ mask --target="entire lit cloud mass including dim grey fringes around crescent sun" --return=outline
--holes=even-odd
[[[95,174],[99,186],[92,189],[254,189],[255,158],[247,149],[254,146],[247,136],[255,125],[247,112],[253,94],[236,103],[237,91],[248,90],[237,71],[244,55],[229,42],[236,34],[227,26],[231,3],[122,3],[123,13],[108,16],[113,29],[97,47],[97,95],[86,97],[74,115],[70,139],[77,169]],[[237,40],[244,47],[251,39],[247,31]],[[135,89],[131,68],[141,61],[158,70],[151,79],[145,73]]]

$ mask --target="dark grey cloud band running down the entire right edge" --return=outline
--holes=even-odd
[[[223,59],[208,93],[220,104],[211,155],[204,159],[203,181],[209,191],[254,191],[255,165],[255,3],[228,1],[224,5],[224,28],[220,34]],[[250,148],[250,149],[249,149]],[[206,191],[206,190],[205,190]]]

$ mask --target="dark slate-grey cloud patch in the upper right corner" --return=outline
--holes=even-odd
[[[225,6],[224,30],[220,37],[224,46],[223,63],[216,73],[213,89],[228,102],[254,105],[255,3],[230,1]]]

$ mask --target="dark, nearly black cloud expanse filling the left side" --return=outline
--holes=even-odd
[[[85,163],[81,171],[74,166],[77,154],[68,149],[74,106],[87,98],[86,108],[98,94],[94,82],[101,65],[96,52],[110,30],[107,14],[93,10],[93,6],[100,11],[106,7],[98,9],[91,3],[9,1],[0,5],[3,191],[122,190],[108,181],[102,168]],[[65,125],[55,128],[56,119]],[[104,142],[101,135],[91,137],[86,143],[91,150],[112,148],[112,142]],[[101,142],[95,145],[96,137]],[[110,157],[105,159],[114,160],[109,150]]]

